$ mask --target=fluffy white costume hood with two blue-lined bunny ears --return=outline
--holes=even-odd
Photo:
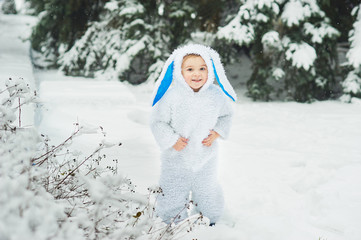
[[[173,80],[176,85],[179,84],[186,89],[189,89],[189,91],[193,91],[184,80],[181,69],[183,57],[189,54],[201,56],[207,65],[208,80],[199,92],[205,91],[211,84],[213,84],[214,79],[216,79],[223,92],[233,101],[237,100],[236,93],[226,77],[219,54],[207,46],[200,44],[188,44],[174,50],[165,62],[162,73],[155,84],[152,106],[154,106],[163,97]]]

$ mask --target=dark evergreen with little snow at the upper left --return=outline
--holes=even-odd
[[[59,54],[73,46],[89,21],[97,19],[105,1],[45,0],[39,3],[38,0],[30,0],[36,11],[43,10],[32,31],[32,48],[42,53],[49,65],[56,65]]]

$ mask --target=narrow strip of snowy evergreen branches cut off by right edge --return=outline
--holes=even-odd
[[[347,102],[350,102],[352,97],[361,98],[361,4],[353,9],[352,14],[356,20],[350,31],[350,50],[347,53],[347,64],[351,71],[342,83],[342,99]]]

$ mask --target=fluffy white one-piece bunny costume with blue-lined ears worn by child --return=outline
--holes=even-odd
[[[208,80],[198,92],[186,83],[181,73],[183,57],[196,54],[203,58]],[[217,80],[219,86],[213,82]],[[172,84],[173,82],[173,84]],[[172,86],[171,86],[172,84]],[[151,130],[161,148],[160,186],[156,211],[165,222],[187,217],[185,205],[192,200],[198,211],[216,222],[223,211],[223,193],[217,181],[217,141],[202,144],[210,130],[227,138],[231,126],[231,101],[236,94],[230,85],[219,55],[203,45],[186,45],[168,58],[153,93]],[[176,151],[172,146],[179,137],[187,146]]]

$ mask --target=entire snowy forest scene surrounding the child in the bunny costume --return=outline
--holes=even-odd
[[[360,239],[359,0],[0,5],[0,240]],[[153,208],[149,97],[188,42],[220,53],[240,99],[213,228]]]

